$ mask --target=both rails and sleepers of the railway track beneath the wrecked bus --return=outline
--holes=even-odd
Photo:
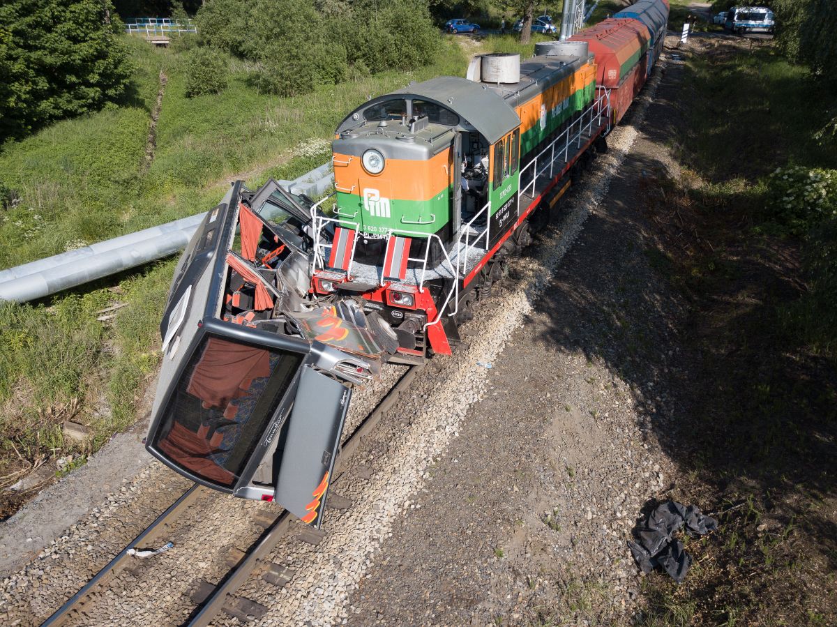
[[[390,388],[388,393],[372,409],[372,412],[367,414],[366,418],[362,419],[362,422],[358,424],[357,428],[341,446],[340,455],[338,455],[335,462],[335,479],[331,482],[329,496],[329,499],[331,499],[333,495],[339,507],[345,508],[349,505],[347,502],[341,502],[341,497],[336,496],[333,492],[339,490],[340,481],[344,474],[342,468],[345,466],[345,463],[351,459],[352,454],[361,445],[363,438],[372,432],[372,429],[375,428],[383,415],[398,402],[398,398],[408,389],[410,383],[413,382],[413,378],[422,369],[424,369],[424,365],[408,368],[398,378],[393,388]],[[169,535],[172,527],[177,524],[177,520],[200,497],[208,496],[212,492],[208,488],[198,486],[197,484],[190,487],[177,498],[177,501],[174,501],[166,511],[157,517],[151,525],[146,527],[145,531],[141,532],[115,558],[111,559],[99,573],[96,573],[93,578],[90,578],[90,581],[85,583],[83,588],[68,599],[49,619],[46,619],[42,627],[57,627],[58,625],[68,624],[73,619],[84,614],[85,608],[95,598],[97,591],[100,591],[117,573],[126,568],[131,560],[132,551],[137,550],[137,547],[157,546],[157,541],[161,541],[162,538]],[[328,506],[328,501],[326,501],[326,507]],[[188,625],[189,627],[208,625],[222,611],[226,611],[228,614],[237,616],[242,620],[252,619],[262,614],[264,612],[262,606],[255,604],[253,601],[249,601],[249,599],[236,597],[235,593],[254,575],[255,571],[261,570],[264,567],[267,567],[265,578],[270,583],[284,585],[284,583],[290,581],[290,578],[293,576],[292,572],[280,567],[280,565],[265,563],[264,560],[270,555],[270,552],[277,543],[285,537],[295,517],[289,511],[280,511],[276,515],[273,512],[267,513],[270,520],[264,522],[266,528],[259,539],[246,552],[239,552],[228,558],[229,572],[218,583],[213,584],[202,580],[195,586],[192,599],[196,607],[183,623],[184,625]],[[311,533],[312,535],[316,535],[314,530],[311,530]]]

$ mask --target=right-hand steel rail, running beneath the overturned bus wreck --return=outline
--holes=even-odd
[[[343,473],[339,471],[341,465],[352,457],[352,454],[361,445],[363,438],[372,431],[383,415],[398,402],[401,393],[408,388],[409,384],[413,382],[413,378],[423,369],[424,364],[409,367],[407,372],[401,375],[401,378],[398,379],[398,382],[395,383],[393,388],[390,388],[387,395],[377,403],[375,409],[372,409],[372,412],[363,419],[362,423],[357,426],[357,429],[352,432],[352,435],[346,439],[335,461],[335,479],[331,482],[332,487],[343,476]],[[328,499],[326,498],[326,504],[327,502]],[[213,590],[212,594],[203,601],[203,604],[183,624],[188,627],[206,627],[206,625],[210,624],[218,613],[221,612],[227,599],[233,596],[241,585],[247,581],[250,574],[259,567],[259,561],[270,555],[270,552],[285,537],[285,534],[290,530],[290,524],[294,518],[294,515],[289,511],[282,511],[275,522],[259,537],[259,540],[254,546],[250,548],[244,559],[227,573],[221,582],[218,583],[218,586]]]

